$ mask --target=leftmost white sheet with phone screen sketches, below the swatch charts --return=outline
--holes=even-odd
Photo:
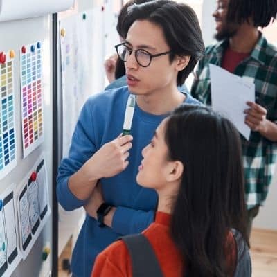
[[[8,253],[8,269],[4,272],[2,277],[8,277],[15,271],[17,265],[22,259],[19,240],[17,240],[19,231],[17,228],[17,213],[15,207],[15,184],[12,184],[0,195],[0,199],[3,199],[3,215],[4,226],[6,229],[7,237],[7,253]],[[12,196],[12,197],[10,197]]]

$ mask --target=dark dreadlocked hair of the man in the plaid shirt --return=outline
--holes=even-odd
[[[276,0],[230,0],[227,20],[242,24],[253,20],[256,27],[266,27],[277,16]]]

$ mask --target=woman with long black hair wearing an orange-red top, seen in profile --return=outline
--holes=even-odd
[[[251,276],[240,151],[229,120],[192,105],[173,111],[143,149],[136,181],[159,196],[155,222],[143,235],[160,276]],[[233,229],[247,242],[240,251]],[[114,242],[91,276],[134,276],[132,262],[125,242]]]

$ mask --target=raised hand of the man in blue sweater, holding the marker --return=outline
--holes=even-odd
[[[107,178],[117,175],[127,168],[129,150],[132,148],[132,136],[118,136],[113,141],[102,145],[93,156],[84,163],[82,172],[87,179]]]

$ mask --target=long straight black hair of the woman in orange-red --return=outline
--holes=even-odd
[[[184,258],[184,276],[226,277],[226,238],[234,228],[247,241],[240,136],[209,108],[181,105],[166,123],[169,159],[184,164],[172,212],[172,239]],[[227,252],[232,251],[229,244]]]

